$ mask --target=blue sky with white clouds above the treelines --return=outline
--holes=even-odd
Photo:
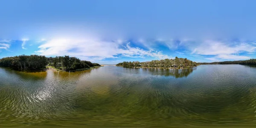
[[[256,58],[255,0],[0,0],[0,58]]]

